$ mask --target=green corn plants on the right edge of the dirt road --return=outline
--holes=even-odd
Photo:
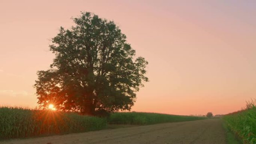
[[[256,144],[256,101],[247,102],[246,108],[223,117],[225,124],[244,144]]]

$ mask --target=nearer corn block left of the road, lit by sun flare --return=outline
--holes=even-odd
[[[0,107],[0,140],[99,130],[106,119],[51,110]]]

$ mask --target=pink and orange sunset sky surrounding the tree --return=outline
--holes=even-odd
[[[0,105],[35,107],[51,38],[89,11],[149,62],[132,111],[226,114],[256,98],[255,0],[1,0]]]

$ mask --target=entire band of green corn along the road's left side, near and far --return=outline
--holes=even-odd
[[[31,110],[0,107],[0,140],[28,138],[56,134],[96,131],[115,125],[150,125],[206,119],[197,116],[177,116],[158,113],[112,113],[107,118],[83,116],[54,110]]]

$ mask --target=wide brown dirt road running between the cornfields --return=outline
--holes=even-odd
[[[79,134],[24,140],[0,144],[225,144],[220,119],[163,123],[131,128],[106,129]]]

